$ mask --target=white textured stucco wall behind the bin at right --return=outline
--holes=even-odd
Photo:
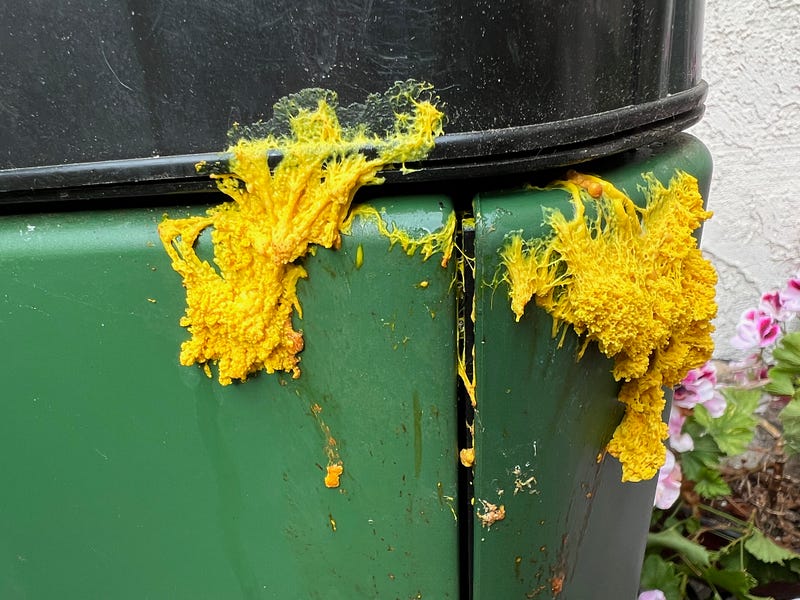
[[[691,133],[714,178],[702,248],[719,272],[718,358],[743,310],[800,267],[800,0],[707,0],[706,115]]]

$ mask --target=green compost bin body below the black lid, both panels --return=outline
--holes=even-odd
[[[642,173],[675,169],[707,191],[685,134],[581,166],[639,200]],[[457,200],[370,202],[421,233]],[[455,261],[357,221],[304,263],[302,375],[227,387],[178,364],[184,292],[156,232],[200,209],[4,216],[0,597],[633,599],[654,482],[596,460],[621,417],[610,363],[576,362],[547,314],[515,323],[504,284],[485,285],[543,206],[569,209],[519,186],[473,196],[458,241],[474,231],[474,323]],[[475,341],[474,473],[458,460],[459,328]],[[329,437],[344,463],[330,489]],[[535,477],[524,493],[516,470]],[[506,518],[482,528],[475,503],[499,490]]]

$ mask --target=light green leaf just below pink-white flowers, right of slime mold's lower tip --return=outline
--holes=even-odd
[[[753,413],[758,408],[762,391],[723,388],[722,393],[728,402],[724,414],[715,419],[704,406],[696,406],[694,419],[706,428],[720,451],[728,456],[736,456],[747,450],[753,441],[758,423],[758,417]]]

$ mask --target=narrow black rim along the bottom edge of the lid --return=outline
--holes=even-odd
[[[708,84],[701,80],[689,90],[656,101],[593,115],[518,127],[445,134],[437,138],[434,150],[419,163],[421,171],[418,174],[429,171],[461,173],[474,168],[476,161],[494,165],[512,164],[520,160],[525,162],[525,154],[579,154],[581,146],[598,147],[606,138],[622,140],[631,137],[631,133],[637,130],[655,131],[659,127],[663,129],[664,124],[670,122],[673,123],[672,129],[678,131],[700,120],[707,92]],[[691,122],[680,124],[682,120]],[[0,170],[0,196],[59,188],[168,181],[191,183],[195,180],[198,189],[201,189],[208,187],[208,178],[199,175],[195,165],[202,161],[225,162],[228,158],[230,155],[225,152],[205,152],[5,169]],[[528,164],[536,166],[536,163],[528,160]],[[402,180],[419,179],[404,176]]]

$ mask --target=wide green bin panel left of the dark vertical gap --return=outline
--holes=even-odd
[[[222,387],[178,364],[163,212],[0,220],[0,598],[457,598],[453,263],[357,222],[305,262],[302,376]]]

